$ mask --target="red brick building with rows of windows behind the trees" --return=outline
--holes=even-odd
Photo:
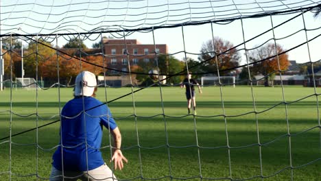
[[[136,39],[128,39],[125,43],[123,39],[104,38],[104,54],[108,68],[128,71],[128,59],[130,66],[138,64],[139,61],[154,61],[155,51],[156,53],[165,54],[167,53],[167,45],[141,44]],[[116,75],[121,73],[110,71],[108,74]]]

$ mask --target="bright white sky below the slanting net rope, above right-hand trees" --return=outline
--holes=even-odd
[[[273,31],[267,32],[262,36],[254,38],[263,32],[272,29],[272,23],[274,27],[280,25],[285,21],[292,19],[294,16],[299,15],[297,18],[276,27]],[[317,29],[321,25],[321,17],[314,18],[312,13],[304,14],[305,23],[303,23],[303,17],[300,14],[289,14],[286,16],[272,16],[272,23],[270,16],[258,18],[258,19],[243,19],[243,29],[241,21],[233,21],[226,25],[213,24],[213,36],[218,36],[224,40],[228,40],[233,45],[241,45],[238,49],[244,49],[244,40],[251,40],[246,43],[247,49],[252,49],[268,41],[269,43],[274,43],[272,38],[276,38],[276,43],[281,45],[283,49],[292,49],[301,43],[305,43],[311,38],[321,34],[321,30]],[[305,32],[305,27],[307,30],[307,35]],[[138,33],[128,36],[128,38],[137,38],[141,43],[155,43],[156,44],[167,44],[169,47],[169,53],[176,53],[179,51],[184,51],[184,49],[189,53],[200,53],[202,44],[208,40],[212,39],[211,24],[206,25],[196,25],[196,26],[186,26],[186,27],[176,27],[169,29],[156,29],[154,31],[154,38],[152,33]],[[243,37],[244,32],[244,37]],[[183,42],[183,34],[184,41]],[[244,39],[243,39],[244,38]],[[320,38],[316,38],[309,42],[309,50],[307,49],[307,44],[302,45],[292,51],[289,51],[289,60],[296,60],[299,63],[311,61],[317,61],[321,59],[320,55]],[[310,55],[309,55],[310,52]],[[240,51],[241,55],[245,54],[245,51]],[[182,60],[185,57],[184,53],[175,54],[176,58]],[[187,54],[187,57],[198,59],[197,55]],[[246,63],[246,58],[243,56],[242,64]]]

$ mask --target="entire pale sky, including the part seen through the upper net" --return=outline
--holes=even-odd
[[[130,27],[152,27],[167,23],[182,23],[185,21],[222,19],[224,17],[239,16],[235,13],[235,6],[241,13],[249,12],[255,14],[263,10],[283,10],[284,4],[286,8],[290,5],[316,5],[318,1],[305,0],[288,0],[288,1],[255,1],[261,2],[260,8],[253,0],[225,0],[225,1],[193,1],[193,0],[176,0],[176,1],[103,1],[103,0],[73,0],[73,1],[34,1],[34,0],[5,0],[1,1],[1,34],[46,34],[55,33],[75,33],[85,32],[86,29],[95,29],[102,27],[102,30],[115,30],[120,26]],[[234,4],[233,4],[234,3]],[[262,8],[262,7],[272,8]],[[122,8],[124,7],[124,8]],[[250,8],[253,9],[250,9]],[[163,11],[164,10],[164,11]],[[141,12],[140,12],[141,11]],[[213,13],[213,11],[215,13]],[[243,11],[243,12],[242,12]],[[252,11],[252,12],[251,12]],[[245,14],[245,13],[244,13]],[[268,29],[279,25],[288,19],[292,21],[277,27],[273,31],[267,32],[257,38]],[[244,41],[251,40],[245,44],[247,49],[252,49],[268,41],[273,43],[272,38],[276,38],[276,43],[281,45],[283,49],[292,49],[301,43],[306,42],[305,25],[307,29],[307,38],[311,39],[319,34],[318,29],[321,25],[321,17],[313,18],[313,13],[307,12],[303,15],[300,13],[265,16],[261,18],[235,20],[232,22],[222,22],[220,24],[213,23],[213,36],[218,36],[224,40],[228,40],[233,45],[241,45],[238,49],[244,49]],[[303,22],[303,18],[304,21]],[[134,20],[134,21],[129,21]],[[114,24],[111,24],[114,23]],[[127,23],[127,24],[126,24]],[[153,24],[154,23],[154,24]],[[243,25],[242,25],[243,23]],[[108,26],[107,26],[108,25]],[[244,36],[243,36],[244,34]],[[122,38],[122,34],[103,34],[103,36],[115,36]],[[65,37],[58,38],[58,45],[62,46],[67,43]],[[171,27],[163,29],[155,29],[152,32],[132,32],[126,36],[128,39],[137,39],[143,44],[167,44],[169,53],[173,53],[176,58],[182,60],[185,53],[177,53],[187,51],[187,57],[198,59],[197,55],[190,53],[200,53],[202,44],[212,39],[211,23],[204,25],[189,25],[184,27]],[[85,43],[91,47],[93,43],[99,41],[99,34],[87,34]],[[289,60],[296,60],[299,63],[317,61],[321,58],[319,47],[320,38],[316,38],[309,43],[309,51],[307,44],[302,45],[292,51],[289,51]],[[53,44],[56,40],[53,41]],[[244,56],[245,51],[240,51],[242,56],[241,64],[246,64]]]

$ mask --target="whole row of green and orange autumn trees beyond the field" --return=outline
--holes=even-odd
[[[94,49],[101,49],[101,46],[101,41],[92,45]],[[86,53],[88,47],[82,40],[71,38],[68,43],[58,48],[59,51],[51,47],[54,47],[54,45],[43,39],[30,41],[27,47],[24,47],[24,77],[36,77],[36,72],[38,72],[38,79],[57,80],[59,75],[60,79],[67,84],[71,84],[80,70],[104,75],[104,69],[101,67],[106,65],[102,64],[102,55],[88,55]],[[21,54],[16,52],[17,49],[21,49],[19,40],[3,40],[6,79],[10,78],[11,69],[13,70],[12,77],[21,77]],[[285,71],[289,66],[288,56],[284,51],[285,49],[281,45],[275,43],[268,43],[248,50],[243,57],[246,57],[250,65],[243,67],[241,73],[233,70],[233,68],[240,66],[241,53],[235,49],[233,43],[219,37],[202,44],[198,60],[192,58],[178,60],[174,56],[158,56],[157,60],[160,74],[169,76],[168,84],[179,84],[184,78],[184,70],[189,69],[195,78],[205,75],[215,76],[218,73],[221,76],[239,73],[240,79],[248,80],[250,76],[261,74],[265,76],[265,86],[269,86],[269,79],[273,78],[279,71]],[[80,58],[91,64],[79,61]],[[151,80],[147,73],[155,67],[155,61],[139,61],[138,64],[130,67],[130,71],[139,73],[136,75],[136,80],[141,84],[150,84]],[[106,71],[108,72],[108,70]],[[180,72],[182,74],[176,75]],[[253,79],[253,77],[251,78]]]

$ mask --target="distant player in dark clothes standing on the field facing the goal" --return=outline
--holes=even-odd
[[[198,91],[202,94],[202,89],[200,84],[194,79],[191,78],[191,73],[187,74],[186,78],[183,80],[182,84],[180,84],[180,88],[186,88],[186,99],[187,99],[187,109],[189,114],[191,114],[191,100],[193,100],[193,110],[196,115],[196,102],[195,102],[195,88],[194,86],[198,86]]]

